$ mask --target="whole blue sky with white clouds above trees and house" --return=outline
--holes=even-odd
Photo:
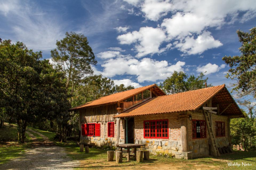
[[[0,37],[51,58],[65,32],[88,37],[95,74],[134,87],[163,82],[174,71],[205,72],[229,84],[222,57],[240,55],[237,29],[256,26],[255,1],[2,1]]]

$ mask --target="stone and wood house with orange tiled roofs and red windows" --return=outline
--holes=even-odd
[[[230,119],[245,117],[225,84],[172,95],[152,84],[71,110],[80,115],[81,143],[139,143],[150,152],[185,159],[230,146]]]

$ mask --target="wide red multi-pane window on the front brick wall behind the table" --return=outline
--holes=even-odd
[[[143,122],[144,138],[168,139],[169,122],[166,120],[148,120]]]

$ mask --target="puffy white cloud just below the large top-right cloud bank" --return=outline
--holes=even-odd
[[[214,40],[213,36],[210,35],[210,32],[204,31],[196,39],[194,37],[186,37],[182,42],[176,44],[178,48],[184,54],[201,54],[205,50],[217,48],[221,46],[222,43],[218,40]]]

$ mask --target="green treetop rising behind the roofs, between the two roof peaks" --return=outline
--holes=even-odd
[[[172,76],[164,80],[163,83],[160,83],[160,88],[162,88],[167,94],[176,94],[179,92],[197,90],[205,87],[208,78],[204,79],[204,74],[200,73],[199,76],[195,77],[194,75],[188,76],[184,72],[174,71]],[[208,87],[212,86],[208,84]]]

